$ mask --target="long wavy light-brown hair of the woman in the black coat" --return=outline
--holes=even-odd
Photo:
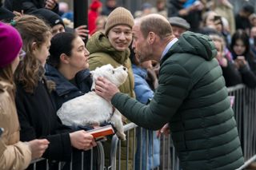
[[[14,78],[18,83],[22,83],[26,92],[33,93],[38,81],[44,78],[44,68],[32,53],[32,45],[36,42],[39,48],[46,42],[46,39],[51,36],[50,27],[41,19],[32,15],[16,17],[14,23],[14,27],[22,36],[22,49],[26,52],[26,57],[20,61],[14,73]]]

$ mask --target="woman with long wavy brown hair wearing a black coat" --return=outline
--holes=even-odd
[[[39,18],[30,15],[14,18],[12,23],[22,35],[23,50],[26,52],[26,57],[22,59],[14,74],[21,140],[42,137],[49,140],[49,148],[42,157],[50,160],[50,169],[56,169],[53,162],[70,162],[73,148],[89,150],[96,143],[89,133],[84,130],[74,132],[62,125],[57,117],[55,105],[50,97],[50,89],[54,83],[47,81],[44,75],[44,65],[50,47],[50,28]],[[46,168],[43,162],[37,166]]]

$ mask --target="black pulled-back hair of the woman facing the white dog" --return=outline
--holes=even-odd
[[[58,33],[50,40],[50,57],[47,64],[54,66],[58,69],[60,64],[60,56],[65,53],[67,56],[71,55],[73,49],[73,41],[78,35],[74,33]]]

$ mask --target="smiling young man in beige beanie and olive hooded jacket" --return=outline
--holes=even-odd
[[[89,67],[90,70],[94,70],[102,65],[111,64],[114,67],[120,65],[125,66],[128,69],[128,77],[124,84],[119,89],[122,93],[126,93],[130,97],[134,97],[134,75],[132,72],[130,62],[130,49],[129,45],[132,41],[132,27],[134,26],[134,18],[130,14],[129,10],[123,7],[118,7],[113,10],[107,18],[105,34],[102,32],[96,32],[90,37],[87,42],[86,49],[90,52]],[[124,123],[128,123],[126,118],[123,119]],[[130,136],[133,136],[130,134]],[[127,139],[130,141],[130,148],[133,149],[133,139],[130,137]],[[122,146],[124,146],[122,144]],[[108,152],[110,152],[110,144],[108,146]],[[124,148],[126,150],[126,148]],[[129,155],[129,166],[132,167],[133,157],[132,150]],[[110,154],[106,152],[106,157]],[[126,155],[126,153],[124,153]],[[107,163],[106,163],[107,164]],[[126,156],[122,157],[122,169],[126,167]],[[130,169],[130,168],[129,168]]]

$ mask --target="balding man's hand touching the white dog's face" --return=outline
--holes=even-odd
[[[98,77],[95,84],[95,92],[106,101],[111,101],[114,94],[119,92],[118,87],[104,77]]]

